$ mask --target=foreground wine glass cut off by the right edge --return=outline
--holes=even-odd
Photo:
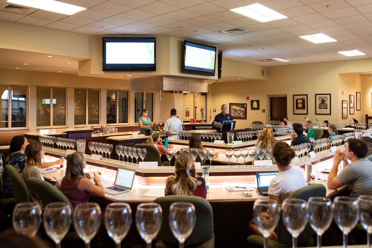
[[[367,247],[371,247],[372,236],[372,196],[362,195],[358,197],[360,208],[360,222],[367,231]]]

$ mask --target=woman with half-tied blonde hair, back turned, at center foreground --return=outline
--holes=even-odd
[[[166,181],[165,195],[193,195],[206,198],[206,186],[203,177],[195,176],[194,160],[188,154],[181,154],[174,163],[176,176]]]

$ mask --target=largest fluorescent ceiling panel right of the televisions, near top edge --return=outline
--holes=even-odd
[[[251,19],[257,20],[259,22],[270,22],[273,20],[280,20],[288,18],[275,10],[269,9],[259,3],[250,4],[247,6],[231,9],[232,12],[242,14]]]

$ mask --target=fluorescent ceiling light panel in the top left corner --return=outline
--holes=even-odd
[[[86,10],[83,7],[54,0],[7,0],[7,2],[67,15]]]

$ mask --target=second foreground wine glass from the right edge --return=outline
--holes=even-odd
[[[347,247],[347,235],[359,220],[359,205],[356,198],[336,196],[332,203],[333,219],[343,235],[343,247]]]

